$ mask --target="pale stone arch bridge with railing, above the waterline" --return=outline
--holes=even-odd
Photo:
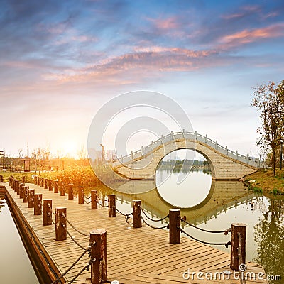
[[[215,180],[239,180],[256,172],[260,166],[259,159],[240,155],[238,151],[231,151],[196,131],[171,132],[136,152],[112,161],[111,166],[124,178],[154,179],[160,160],[179,149],[192,149],[201,153],[207,159]]]

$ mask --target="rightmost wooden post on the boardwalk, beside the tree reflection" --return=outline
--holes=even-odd
[[[241,256],[239,256],[239,235],[241,236]],[[240,263],[241,259],[244,263]],[[246,263],[246,224],[231,224],[231,263],[230,268],[239,271],[240,264]]]

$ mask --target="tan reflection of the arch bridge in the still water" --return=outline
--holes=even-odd
[[[167,215],[169,209],[179,208],[163,200],[157,188],[143,192],[143,189],[153,187],[155,187],[154,180],[129,180],[122,185],[116,185],[115,188],[118,191],[116,196],[121,203],[131,204],[132,200],[141,200],[143,209],[158,219]],[[105,193],[108,194],[108,192]],[[180,209],[182,216],[185,216],[190,222],[202,224],[232,207],[249,202],[253,197],[256,197],[255,193],[248,192],[242,182],[212,180],[209,193],[200,204],[187,208],[180,207]],[[185,198],[190,198],[190,194]]]

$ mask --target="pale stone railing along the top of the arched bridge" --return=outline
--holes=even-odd
[[[165,143],[169,143],[170,141],[175,141],[177,139],[190,139],[199,141],[201,143],[207,144],[211,148],[214,148],[215,151],[222,153],[223,155],[228,156],[229,158],[233,158],[234,160],[239,160],[242,163],[246,163],[247,165],[253,165],[254,167],[258,168],[260,165],[258,158],[251,158],[249,155],[241,155],[238,151],[234,152],[228,149],[228,147],[224,147],[218,143],[218,141],[213,141],[212,139],[208,138],[207,135],[203,136],[197,131],[195,132],[188,132],[188,131],[180,131],[175,132],[173,131],[166,136],[161,136],[156,141],[151,141],[151,144],[145,147],[141,147],[140,150],[132,152],[128,155],[124,155],[116,160],[113,160],[113,165],[119,165],[120,163],[131,163],[133,160],[143,158],[143,156],[153,153],[158,147]]]

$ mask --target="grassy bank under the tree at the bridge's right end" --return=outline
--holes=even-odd
[[[243,181],[249,185],[249,190],[254,192],[284,195],[284,170],[277,170],[275,177],[272,169],[258,170],[256,173],[246,175]]]

